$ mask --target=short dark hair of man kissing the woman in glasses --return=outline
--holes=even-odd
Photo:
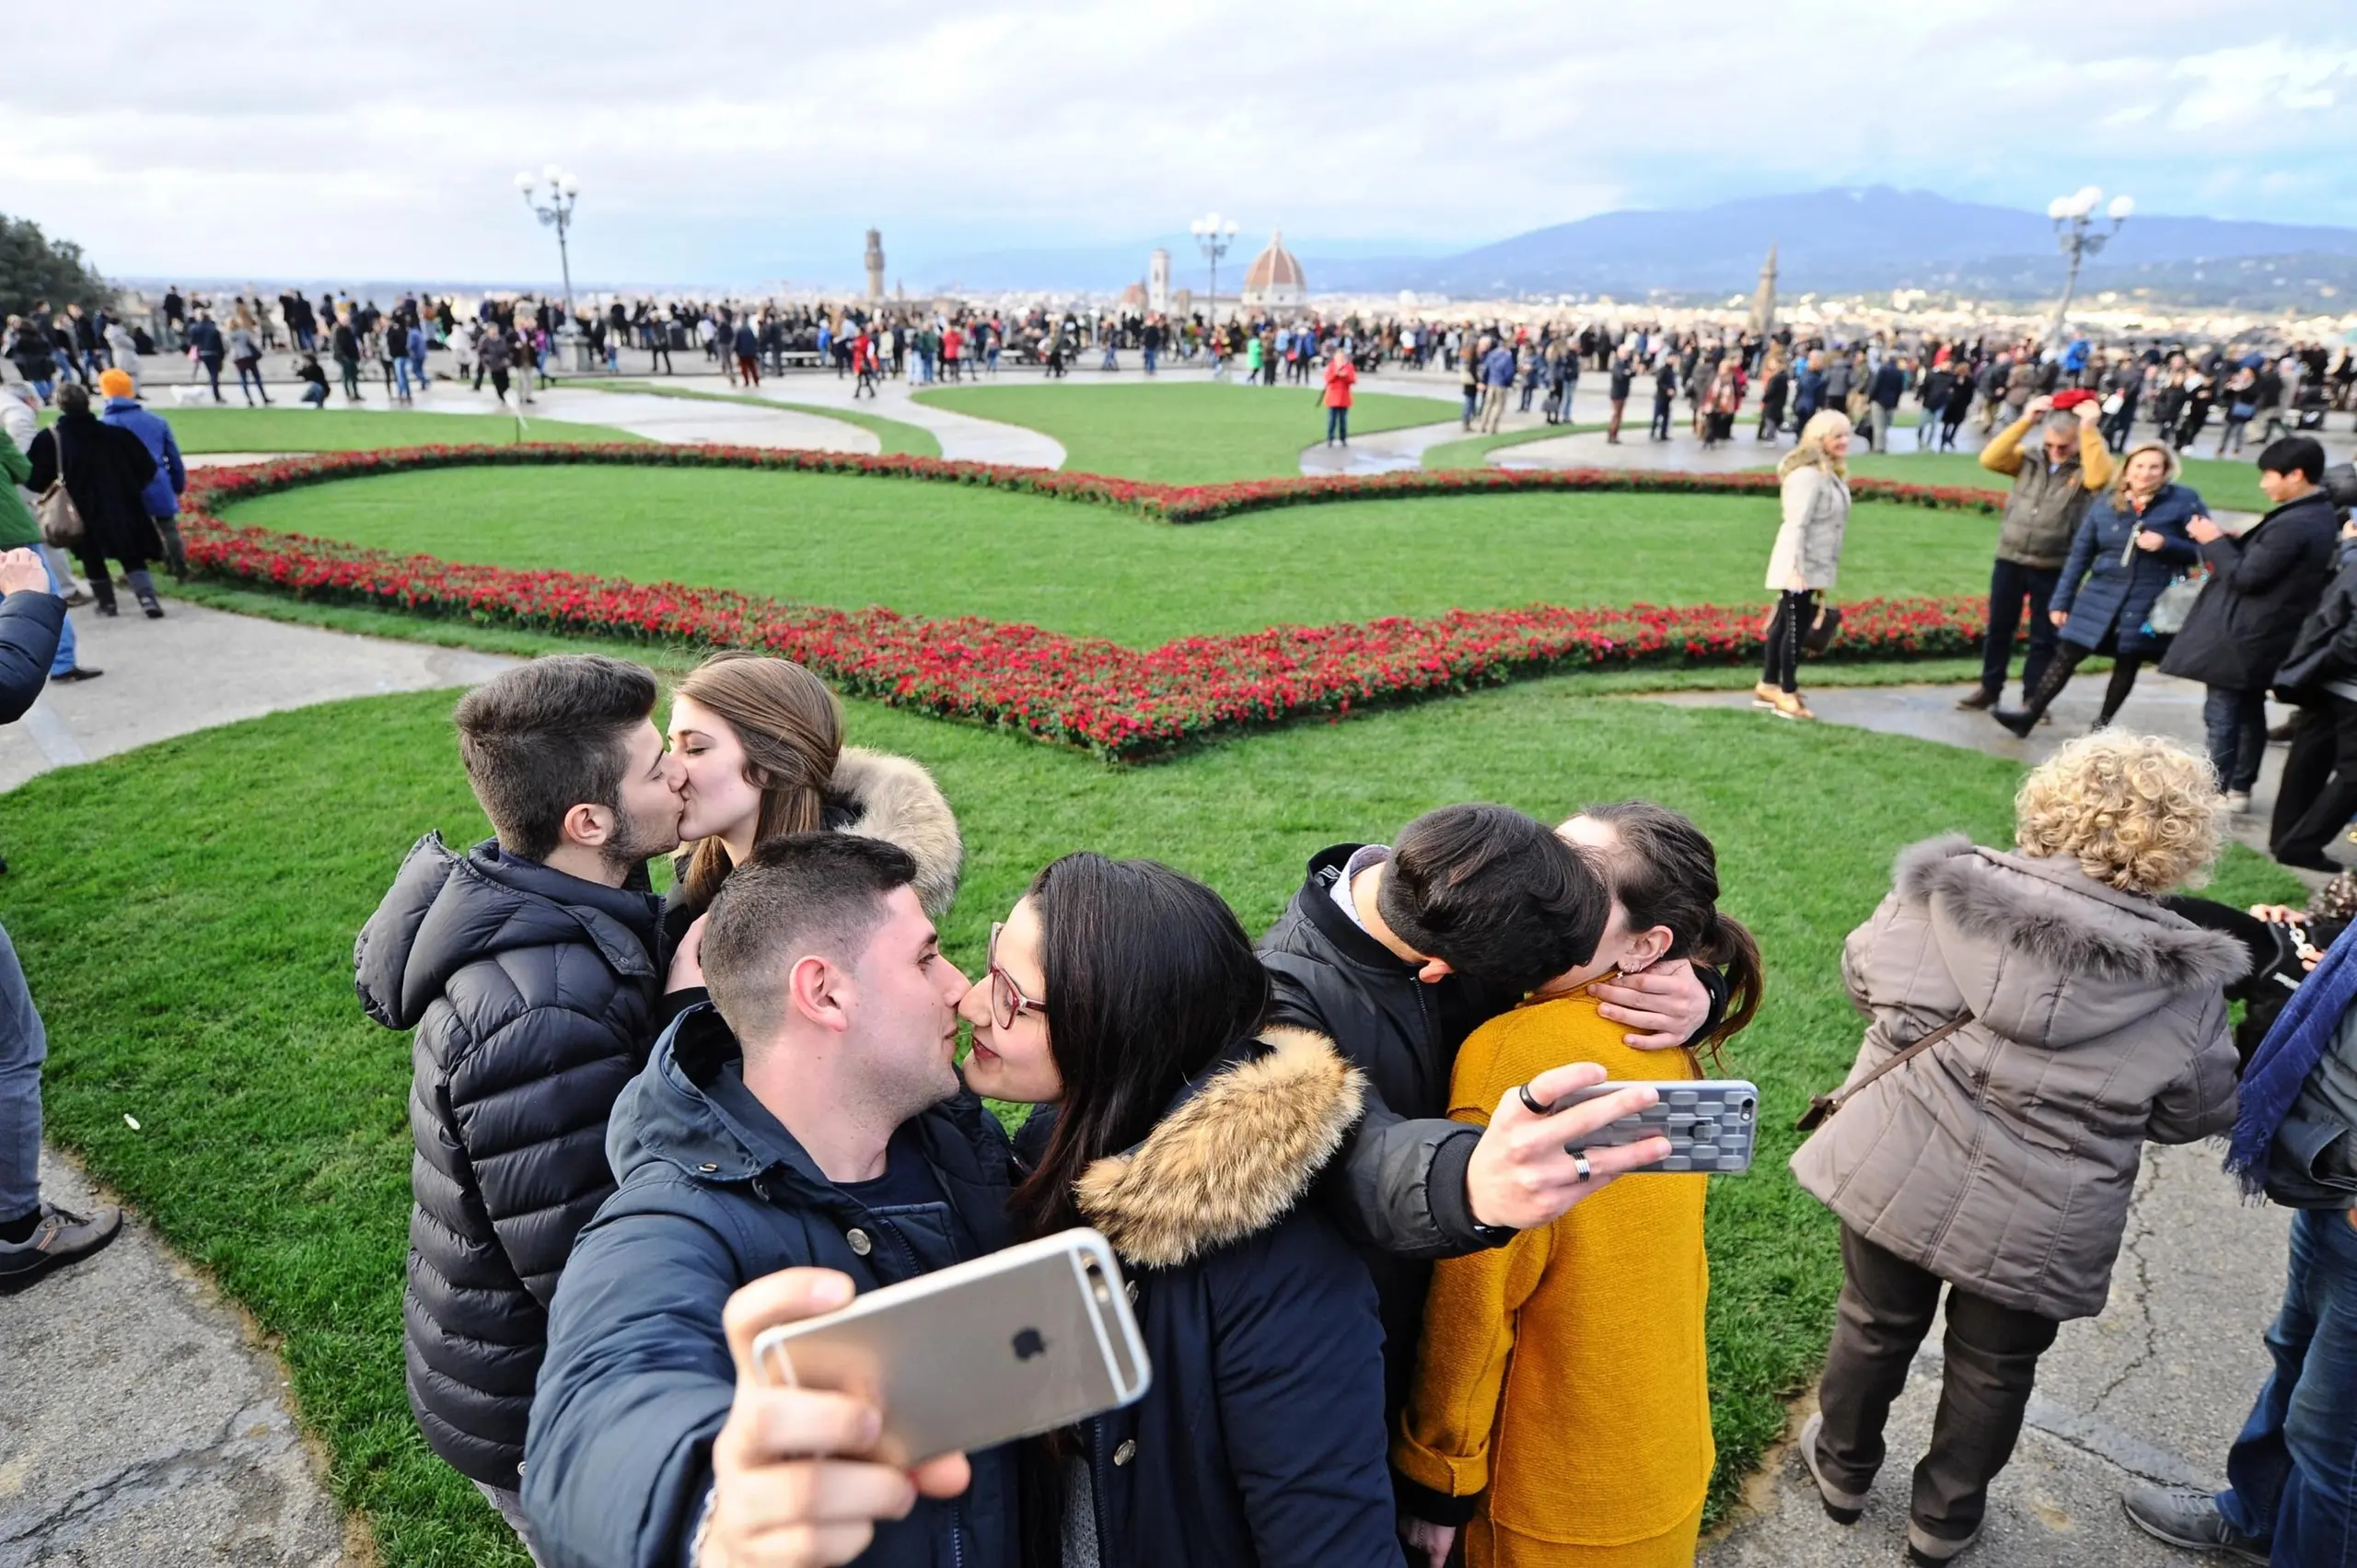
[[[917,856],[856,832],[785,832],[728,872],[705,915],[712,1004],[747,1049],[785,1023],[787,969],[818,953],[849,964],[884,898],[917,879]]]

